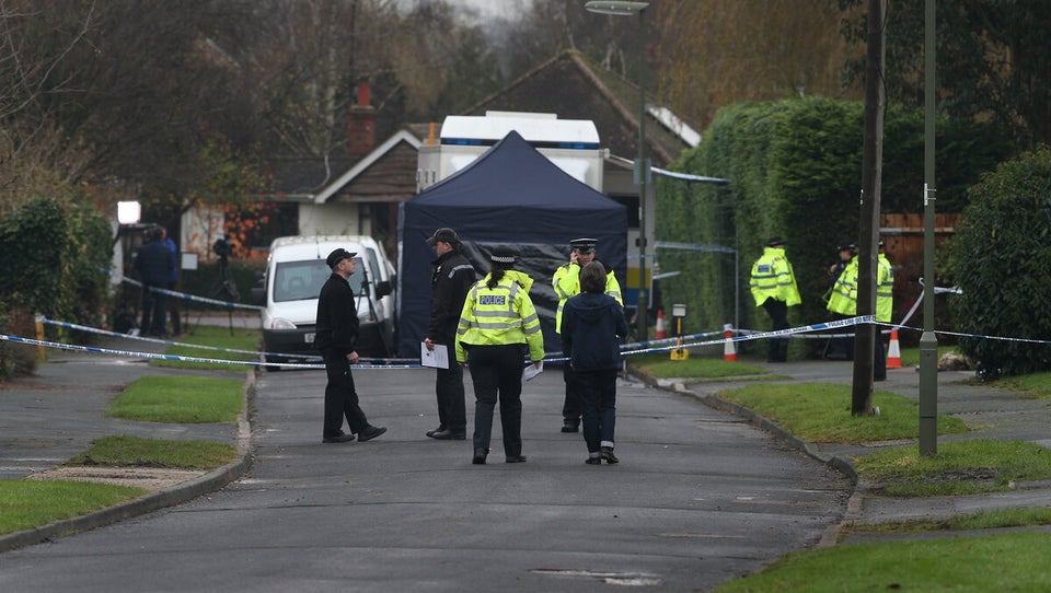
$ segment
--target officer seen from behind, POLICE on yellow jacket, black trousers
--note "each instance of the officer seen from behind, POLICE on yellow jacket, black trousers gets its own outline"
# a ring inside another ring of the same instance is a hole
[[[510,249],[494,249],[489,274],[467,293],[457,327],[457,362],[474,382],[473,464],[484,464],[493,433],[493,410],[500,402],[500,427],[507,463],[522,455],[523,350],[536,369],[544,360],[544,336],[529,298],[533,279],[515,269]]]

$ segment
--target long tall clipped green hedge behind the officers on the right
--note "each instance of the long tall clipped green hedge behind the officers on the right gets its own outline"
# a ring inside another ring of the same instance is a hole
[[[732,254],[657,249],[660,271],[680,272],[661,280],[660,289],[665,307],[688,304],[686,333],[735,323],[736,303],[740,327],[770,327],[751,299],[748,279],[771,235],[786,240],[802,296],[802,304],[789,310],[789,322],[829,318],[822,295],[835,245],[858,237],[863,129],[864,105],[857,102],[804,97],[738,104],[720,109],[703,142],[671,165],[730,184],[661,178],[657,241],[730,247],[739,258],[735,276]],[[888,108],[883,133],[881,210],[921,211],[922,114]],[[938,209],[959,211],[965,188],[1008,154],[1009,143],[978,125],[940,121],[938,135]]]

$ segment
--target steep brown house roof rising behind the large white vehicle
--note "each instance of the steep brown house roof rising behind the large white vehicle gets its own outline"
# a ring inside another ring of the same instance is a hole
[[[564,119],[590,119],[611,153],[625,158],[638,153],[638,85],[602,70],[579,51],[563,51],[464,113],[485,115],[487,111],[545,112]],[[663,166],[677,160],[691,142],[652,117],[662,112],[654,106],[648,111],[647,155],[655,165]]]

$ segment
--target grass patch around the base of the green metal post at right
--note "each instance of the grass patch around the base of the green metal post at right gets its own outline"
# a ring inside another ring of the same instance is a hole
[[[886,482],[888,496],[977,495],[1051,479],[1051,450],[1026,441],[975,439],[939,444],[932,456],[921,456],[916,446],[886,449],[855,457],[854,467],[869,480]]]

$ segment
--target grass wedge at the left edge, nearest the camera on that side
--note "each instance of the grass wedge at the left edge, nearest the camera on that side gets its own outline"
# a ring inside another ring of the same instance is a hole
[[[0,480],[0,535],[84,515],[147,491],[88,481]]]

